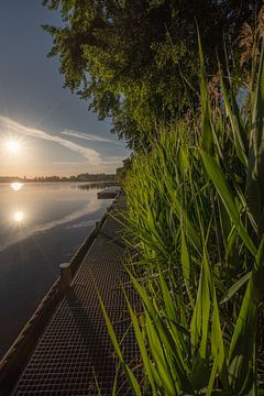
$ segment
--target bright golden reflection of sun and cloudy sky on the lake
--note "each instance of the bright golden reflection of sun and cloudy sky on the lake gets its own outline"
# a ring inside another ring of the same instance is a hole
[[[50,233],[55,227],[65,224],[66,230],[67,226],[80,224],[82,220],[96,221],[109,205],[97,199],[96,188],[80,189],[73,183],[21,180],[21,184],[19,191],[11,188],[11,184],[0,184],[0,263],[1,252],[8,246],[38,232]]]

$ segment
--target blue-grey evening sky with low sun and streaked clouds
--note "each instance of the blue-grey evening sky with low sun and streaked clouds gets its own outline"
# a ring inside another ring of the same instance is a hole
[[[61,24],[41,0],[2,1],[0,13],[0,176],[114,173],[129,156],[125,142],[98,121],[69,89],[52,37],[42,24]],[[9,150],[10,141],[19,150]]]

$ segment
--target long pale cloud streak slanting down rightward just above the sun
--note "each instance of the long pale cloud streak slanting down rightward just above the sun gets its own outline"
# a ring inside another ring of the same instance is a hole
[[[57,143],[75,153],[78,153],[86,160],[88,160],[89,165],[100,167],[102,166],[102,161],[100,154],[92,148],[82,147],[79,144],[73,143],[64,138],[52,135],[43,130],[36,128],[25,127],[20,124],[8,117],[0,116],[0,131],[1,132],[14,132],[18,134],[23,134],[31,138],[42,139],[45,141]]]

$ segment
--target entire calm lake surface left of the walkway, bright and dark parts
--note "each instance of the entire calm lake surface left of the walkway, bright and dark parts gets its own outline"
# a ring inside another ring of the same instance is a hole
[[[110,204],[79,187],[0,184],[0,358]]]

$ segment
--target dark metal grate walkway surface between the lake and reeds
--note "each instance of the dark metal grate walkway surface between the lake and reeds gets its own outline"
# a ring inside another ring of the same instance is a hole
[[[120,197],[118,207],[123,205],[124,198]],[[130,320],[120,287],[128,280],[122,268],[124,249],[120,231],[120,224],[108,218],[69,292],[46,326],[12,395],[98,395],[98,386],[101,395],[111,395],[117,360],[98,293],[121,339]],[[133,293],[128,293],[132,305],[136,305]],[[134,360],[136,365],[139,352],[132,330],[124,339],[123,352],[125,361]],[[120,371],[117,394],[129,395],[128,388]]]

